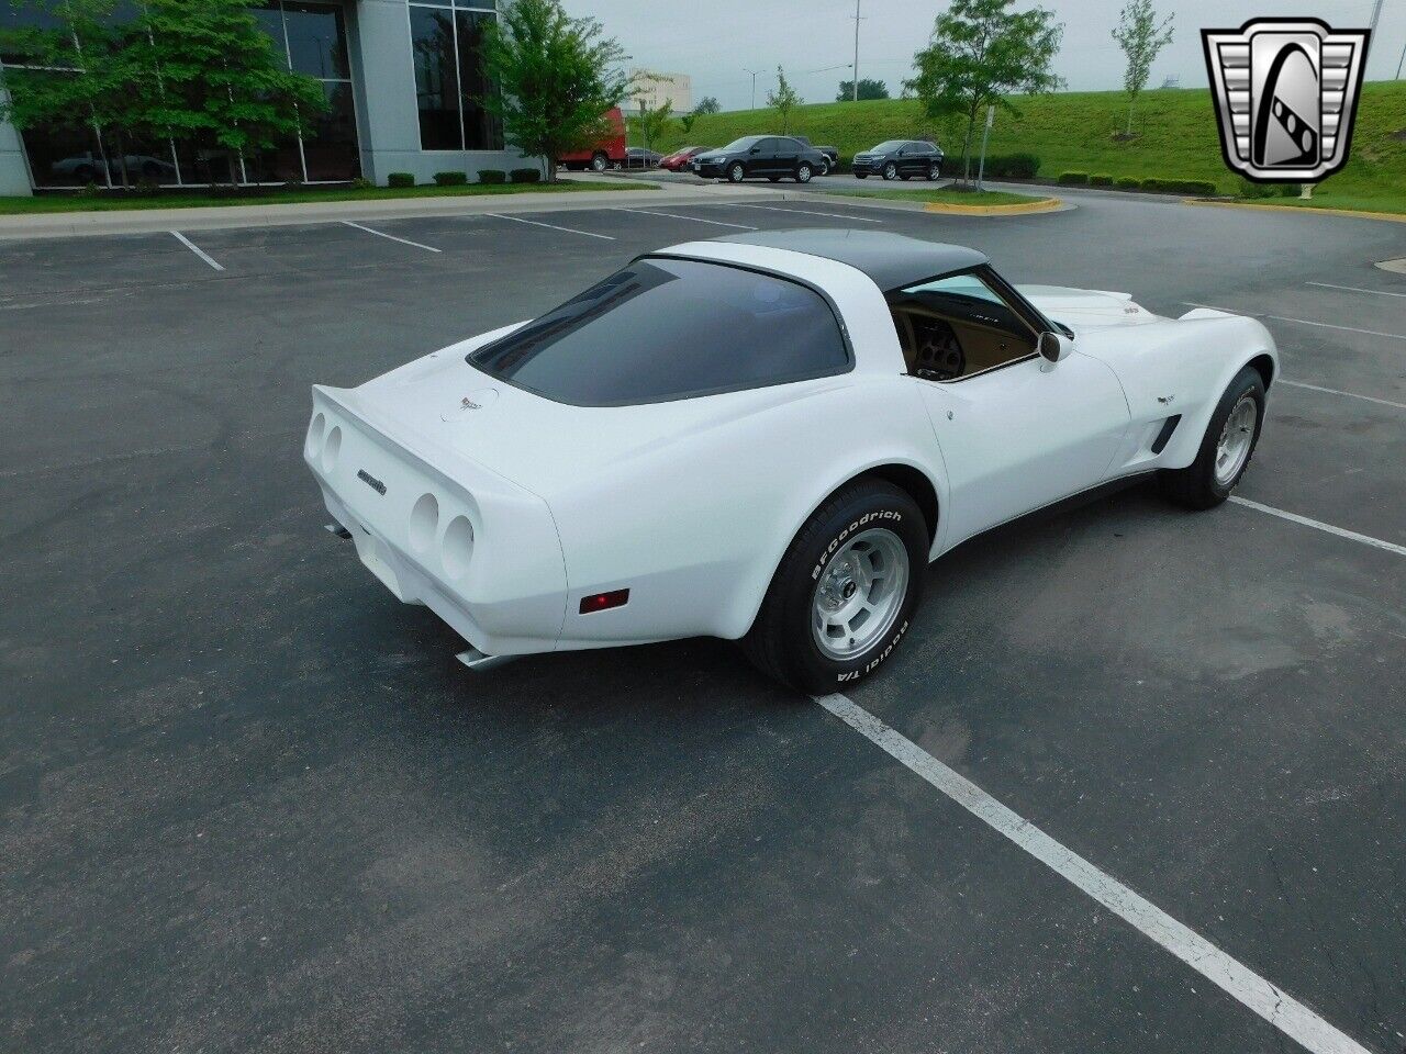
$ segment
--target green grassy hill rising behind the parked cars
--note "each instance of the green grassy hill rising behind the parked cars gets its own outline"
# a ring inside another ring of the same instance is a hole
[[[1133,122],[1140,135],[1129,142],[1114,139],[1128,114],[1121,91],[1070,91],[1017,97],[1014,103],[1021,117],[997,112],[988,152],[1036,155],[1042,180],[1073,170],[1115,177],[1211,180],[1223,194],[1233,194],[1240,186],[1239,176],[1226,169],[1220,157],[1211,93],[1205,89],[1144,93]],[[688,141],[721,146],[740,135],[779,131],[770,110],[711,114],[697,118]],[[914,100],[800,107],[793,112],[790,131],[810,136],[811,142],[834,143],[844,157],[883,139],[917,136],[936,138],[949,157],[962,153],[962,124],[925,122]],[[683,142],[683,132],[675,124],[664,146],[682,146]],[[1316,195],[1324,198],[1323,204],[1330,198],[1334,204],[1396,200],[1400,201],[1398,211],[1406,211],[1406,80],[1374,82],[1364,87],[1351,160],[1341,173],[1324,181]]]

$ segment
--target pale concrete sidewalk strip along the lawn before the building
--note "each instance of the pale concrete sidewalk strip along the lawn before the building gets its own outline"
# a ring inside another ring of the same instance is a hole
[[[575,191],[569,194],[492,194],[484,197],[389,198],[387,201],[326,201],[297,205],[224,205],[214,208],[153,208],[122,212],[41,212],[0,216],[0,240],[14,238],[73,238],[131,235],[160,230],[214,230],[240,226],[335,223],[343,219],[411,219],[416,216],[481,215],[484,212],[561,212],[567,209],[628,207],[655,208],[723,201],[786,200],[785,191],[720,184],[673,186],[659,190]],[[794,197],[794,195],[792,195]]]

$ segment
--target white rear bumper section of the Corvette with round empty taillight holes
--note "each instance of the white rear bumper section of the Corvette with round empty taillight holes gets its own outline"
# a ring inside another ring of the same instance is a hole
[[[304,460],[361,562],[479,652],[551,651],[567,578],[547,505],[359,391],[315,385],[312,403]]]

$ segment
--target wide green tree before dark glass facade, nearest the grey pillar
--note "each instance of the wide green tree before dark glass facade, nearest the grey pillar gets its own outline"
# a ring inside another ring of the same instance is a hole
[[[135,27],[150,69],[131,101],[141,124],[222,148],[231,183],[236,157],[311,135],[307,118],[328,108],[322,84],[288,72],[246,0],[143,0]]]

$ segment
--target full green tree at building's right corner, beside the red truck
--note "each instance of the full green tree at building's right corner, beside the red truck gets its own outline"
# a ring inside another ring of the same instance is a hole
[[[607,111],[630,79],[619,70],[624,51],[595,18],[571,18],[558,0],[512,0],[485,34],[484,56],[499,89],[484,105],[512,146],[543,159],[548,183],[558,157],[612,135]]]

